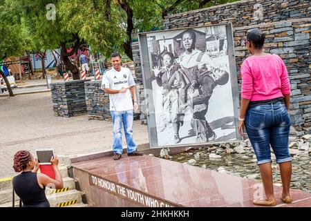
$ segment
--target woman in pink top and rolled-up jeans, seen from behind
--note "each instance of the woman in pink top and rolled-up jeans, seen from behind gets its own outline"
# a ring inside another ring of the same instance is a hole
[[[278,55],[263,52],[265,34],[255,29],[247,35],[246,47],[252,56],[241,66],[242,93],[238,131],[244,128],[254,148],[261,171],[266,199],[254,204],[276,206],[273,191],[270,145],[280,166],[283,191],[281,200],[291,203],[292,163],[288,148],[290,135],[290,81]]]

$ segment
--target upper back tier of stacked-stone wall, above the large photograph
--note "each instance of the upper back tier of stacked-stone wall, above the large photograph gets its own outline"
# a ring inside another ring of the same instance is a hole
[[[234,27],[310,18],[310,0],[236,1],[165,17],[164,29],[232,23]]]

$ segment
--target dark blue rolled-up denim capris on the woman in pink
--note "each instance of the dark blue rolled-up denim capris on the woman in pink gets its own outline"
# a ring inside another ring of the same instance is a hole
[[[292,160],[288,148],[290,115],[285,104],[277,102],[248,108],[245,114],[245,129],[258,165],[272,162],[270,144],[277,163]]]

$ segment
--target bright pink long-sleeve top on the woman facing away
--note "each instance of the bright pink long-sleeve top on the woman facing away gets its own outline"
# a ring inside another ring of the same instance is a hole
[[[279,55],[247,57],[241,66],[241,97],[263,101],[290,94],[288,70]]]

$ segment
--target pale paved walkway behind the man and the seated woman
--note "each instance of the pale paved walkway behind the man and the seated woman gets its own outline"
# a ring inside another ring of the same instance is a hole
[[[15,175],[12,159],[22,149],[79,155],[108,150],[112,144],[111,122],[88,120],[87,115],[54,117],[50,92],[0,97],[0,125],[0,178]],[[149,142],[146,125],[135,121],[133,131],[137,144]]]

